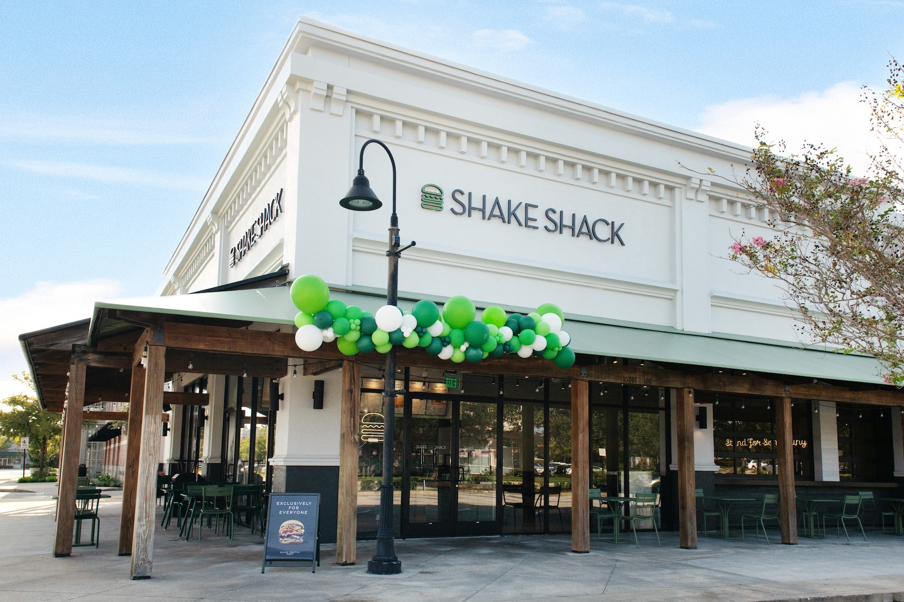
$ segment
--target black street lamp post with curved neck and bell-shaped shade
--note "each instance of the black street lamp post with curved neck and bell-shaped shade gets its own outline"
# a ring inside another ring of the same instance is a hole
[[[396,214],[396,169],[395,158],[388,146],[380,140],[370,139],[361,146],[361,155],[358,159],[358,174],[354,176],[352,187],[342,201],[339,202],[345,209],[353,212],[372,212],[380,209],[382,202],[371,190],[371,183],[364,175],[364,149],[371,143],[383,147],[390,156],[392,164],[392,215],[390,217],[390,249],[386,251],[389,258],[389,278],[386,287],[386,305],[397,306],[399,304],[399,256],[401,252],[415,245],[411,244],[400,249],[399,216]],[[380,486],[380,530],[377,531],[377,552],[372,560],[367,563],[367,572],[376,575],[393,575],[401,572],[401,562],[395,555],[392,529],[392,469],[393,453],[392,440],[395,431],[395,371],[396,350],[393,346],[386,354],[386,373],[384,374],[383,388],[383,482]],[[404,393],[404,391],[402,391]]]

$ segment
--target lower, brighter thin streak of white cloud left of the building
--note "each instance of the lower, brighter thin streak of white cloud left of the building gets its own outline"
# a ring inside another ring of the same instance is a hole
[[[191,175],[165,174],[149,169],[90,165],[66,161],[9,161],[5,165],[35,174],[59,175],[99,182],[126,183],[155,188],[174,188],[203,192],[209,180]]]

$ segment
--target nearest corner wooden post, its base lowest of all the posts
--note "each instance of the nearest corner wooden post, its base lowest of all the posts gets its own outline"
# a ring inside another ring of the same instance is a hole
[[[157,462],[160,459],[161,413],[164,406],[166,348],[147,345],[145,404],[141,419],[141,449],[135,498],[135,529],[132,534],[132,578],[151,576],[156,522]]]

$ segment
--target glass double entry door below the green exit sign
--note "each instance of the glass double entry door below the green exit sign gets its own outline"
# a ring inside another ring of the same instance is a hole
[[[497,403],[412,399],[403,532],[411,537],[493,533]]]

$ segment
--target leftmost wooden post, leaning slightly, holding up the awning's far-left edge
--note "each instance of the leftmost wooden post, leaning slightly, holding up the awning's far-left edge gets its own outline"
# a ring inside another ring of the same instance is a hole
[[[83,364],[69,367],[69,400],[66,401],[66,430],[63,432],[63,456],[60,463],[60,488],[57,496],[57,524],[53,537],[53,555],[72,553],[72,527],[75,524],[75,493],[79,487],[81,451],[81,413],[85,407],[85,369]]]

